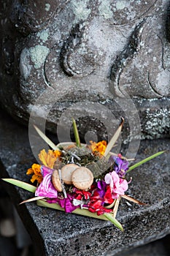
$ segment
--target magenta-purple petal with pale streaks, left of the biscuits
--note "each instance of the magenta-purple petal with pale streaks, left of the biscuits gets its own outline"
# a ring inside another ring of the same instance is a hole
[[[46,166],[42,166],[41,170],[42,170],[43,180],[42,180],[42,183],[39,184],[39,187],[37,187],[35,196],[49,197],[49,198],[58,197],[58,192],[51,182],[53,169],[50,169]]]

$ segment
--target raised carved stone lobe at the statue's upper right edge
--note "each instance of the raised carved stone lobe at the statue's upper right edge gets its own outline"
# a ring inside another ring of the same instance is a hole
[[[160,10],[139,23],[112,67],[113,90],[117,94],[159,98],[170,95],[169,42],[166,17]]]

